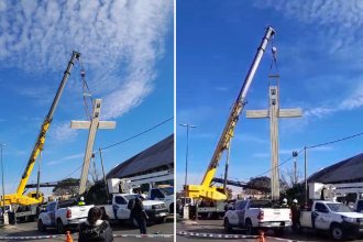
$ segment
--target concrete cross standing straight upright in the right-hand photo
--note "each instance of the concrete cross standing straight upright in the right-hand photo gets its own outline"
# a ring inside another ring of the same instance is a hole
[[[277,86],[270,86],[270,110],[249,110],[246,118],[262,119],[270,118],[271,136],[271,196],[272,199],[279,199],[279,172],[278,172],[278,118],[298,118],[302,116],[301,109],[280,109],[279,94]]]

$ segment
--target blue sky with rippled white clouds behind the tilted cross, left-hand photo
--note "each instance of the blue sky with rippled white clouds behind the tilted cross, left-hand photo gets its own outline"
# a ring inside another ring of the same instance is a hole
[[[95,150],[120,142],[174,116],[173,1],[1,1],[0,141],[6,191],[14,193],[72,51],[81,53],[101,120]],[[65,87],[42,154],[42,182],[55,182],[82,163],[88,132],[80,65]],[[163,140],[173,121],[103,153],[106,170]],[[100,160],[96,160],[100,172]],[[37,165],[30,183],[36,180]],[[77,172],[73,177],[79,177]]]

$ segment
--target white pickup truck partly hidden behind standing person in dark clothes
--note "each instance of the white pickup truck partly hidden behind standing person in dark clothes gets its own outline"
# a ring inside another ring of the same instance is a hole
[[[125,221],[130,220],[130,209],[128,209],[129,200],[135,199],[138,194],[113,194],[112,205],[100,205],[98,207],[105,208],[106,213],[111,220]],[[165,222],[166,217],[169,215],[163,201],[144,200],[144,209],[148,216],[148,222]],[[132,221],[138,224],[136,221]]]

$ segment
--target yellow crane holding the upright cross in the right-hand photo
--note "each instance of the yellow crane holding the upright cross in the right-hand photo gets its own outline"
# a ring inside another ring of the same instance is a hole
[[[268,41],[271,40],[271,37],[273,37],[274,34],[275,34],[274,29],[272,26],[267,26],[265,35],[261,41],[261,44],[257,48],[257,53],[255,54],[253,63],[244,79],[240,94],[239,94],[237,100],[234,101],[233,108],[228,118],[228,121],[223,129],[222,135],[219,139],[219,142],[215,150],[213,156],[212,156],[212,158],[208,165],[208,168],[205,173],[205,176],[201,180],[201,184],[200,185],[187,185],[185,187],[186,197],[196,198],[196,199],[201,198],[201,199],[209,199],[209,200],[227,200],[226,183],[224,183],[223,187],[212,186],[211,183],[216,175],[217,167],[221,160],[222,153],[226,150],[229,150],[229,147],[230,147],[231,138],[233,136],[234,128],[239,120],[239,116],[242,112],[243,107],[246,103],[246,101],[245,101],[246,94],[249,91],[249,88],[250,88],[253,77],[255,75],[255,72],[260,65],[261,58],[268,44]],[[226,166],[224,180],[227,179],[227,172],[228,172],[228,165]]]

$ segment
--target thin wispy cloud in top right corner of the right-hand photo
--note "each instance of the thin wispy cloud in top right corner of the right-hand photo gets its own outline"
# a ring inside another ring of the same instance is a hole
[[[298,0],[257,0],[254,6],[274,9],[287,19],[311,24],[311,31],[316,31],[314,37],[323,43],[311,46],[312,48],[324,50],[340,58],[350,58],[351,53],[363,52],[362,45],[353,45],[362,38],[360,29],[363,23],[363,4],[361,1],[312,0],[302,4]]]

